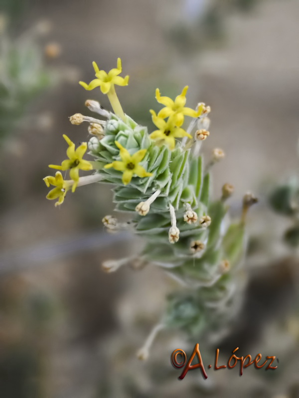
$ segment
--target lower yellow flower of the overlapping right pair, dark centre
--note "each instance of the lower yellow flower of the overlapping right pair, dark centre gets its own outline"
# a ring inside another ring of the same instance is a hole
[[[185,130],[175,125],[175,120],[173,119],[173,117],[170,116],[166,121],[156,115],[155,111],[153,111],[152,109],[150,109],[150,113],[152,114],[153,123],[158,128],[158,130],[155,130],[150,134],[150,138],[152,138],[153,140],[161,141],[162,143],[165,142],[169,146],[171,151],[175,148],[174,138],[192,138],[192,136],[188,134]]]

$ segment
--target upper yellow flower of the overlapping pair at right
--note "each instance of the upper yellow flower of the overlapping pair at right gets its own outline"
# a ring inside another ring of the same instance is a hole
[[[175,120],[175,124],[180,127],[184,122],[184,115],[191,116],[191,117],[198,117],[200,116],[202,109],[198,108],[198,110],[194,110],[191,108],[185,107],[186,103],[186,93],[188,90],[188,86],[185,86],[179,96],[175,98],[175,100],[171,100],[169,97],[161,97],[159,89],[156,89],[156,100],[159,103],[165,105],[162,108],[158,116],[162,119],[165,117],[173,116]]]

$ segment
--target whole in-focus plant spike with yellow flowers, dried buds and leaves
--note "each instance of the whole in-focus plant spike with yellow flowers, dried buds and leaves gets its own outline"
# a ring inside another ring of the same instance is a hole
[[[119,223],[112,215],[103,222],[109,230],[129,228],[143,235],[146,245],[138,256],[103,264],[107,272],[139,260],[164,267],[172,277],[186,286],[167,299],[164,318],[154,327],[139,352],[140,358],[148,356],[149,346],[162,327],[176,327],[190,335],[208,330],[211,333],[224,327],[225,321],[235,315],[233,305],[238,305],[236,269],[244,252],[244,225],[248,208],[256,201],[247,194],[243,201],[241,220],[230,224],[226,199],[233,187],[225,184],[222,196],[210,201],[210,170],[224,157],[215,149],[210,162],[204,167],[199,154],[200,146],[209,132],[207,114],[210,107],[199,103],[196,109],[185,107],[186,92],[182,90],[175,100],[156,99],[164,107],[156,114],[150,110],[157,127],[148,134],[147,127],[138,125],[123,112],[115,92],[115,85],[126,86],[129,77],[120,77],[121,60],[108,74],[93,63],[96,79],[89,85],[80,82],[86,90],[100,87],[107,94],[114,113],[101,107],[99,102],[87,100],[87,107],[105,117],[100,120],[80,113],[70,117],[72,124],[89,123],[92,135],[89,143],[75,149],[74,143],[64,136],[69,147],[68,160],[59,170],[70,170],[71,180],[64,181],[60,172],[44,179],[47,186],[55,188],[47,198],[61,204],[67,191],[93,182],[114,184],[116,209],[133,213],[129,223]],[[191,122],[182,128],[185,116]],[[198,129],[193,134],[193,130]],[[178,140],[177,138],[182,138]],[[87,150],[94,161],[83,160]],[[79,170],[94,170],[79,178]]]

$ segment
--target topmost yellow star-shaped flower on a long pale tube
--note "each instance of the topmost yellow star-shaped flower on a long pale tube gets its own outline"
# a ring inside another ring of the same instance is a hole
[[[100,71],[95,62],[93,62],[92,65],[96,72],[97,79],[92,80],[89,85],[84,82],[79,82],[85,90],[93,90],[96,87],[100,87],[103,94],[108,94],[113,90],[115,84],[118,86],[128,86],[129,76],[126,76],[125,78],[118,76],[122,72],[122,60],[120,58],[117,60],[117,68],[111,69],[108,73]]]

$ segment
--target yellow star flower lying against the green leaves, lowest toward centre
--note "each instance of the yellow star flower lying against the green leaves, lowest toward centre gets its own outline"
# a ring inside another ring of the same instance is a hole
[[[139,163],[146,156],[147,149],[141,149],[134,155],[130,155],[126,148],[124,148],[118,141],[115,141],[115,145],[120,149],[120,156],[122,161],[115,161],[104,166],[105,169],[113,167],[115,170],[124,172],[123,183],[128,185],[134,174],[138,177],[150,177],[151,173],[148,173]]]

